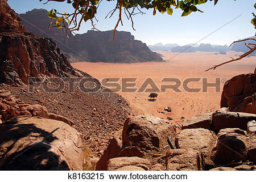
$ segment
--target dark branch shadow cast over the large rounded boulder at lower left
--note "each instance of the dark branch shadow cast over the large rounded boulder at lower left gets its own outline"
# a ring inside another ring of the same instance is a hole
[[[51,143],[57,139],[34,124],[17,124],[16,118],[0,125],[0,170],[69,170]],[[23,137],[31,141],[22,141]],[[43,140],[35,140],[43,137]],[[18,147],[16,147],[18,145]],[[6,147],[5,147],[6,146]]]

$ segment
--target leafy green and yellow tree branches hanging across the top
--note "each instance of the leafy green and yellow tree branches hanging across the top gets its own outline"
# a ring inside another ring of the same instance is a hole
[[[43,1],[43,0],[39,0],[39,1]],[[93,29],[97,29],[94,27],[93,20],[95,19],[95,15],[97,14],[97,9],[98,9],[98,6],[100,6],[100,2],[105,0],[48,0],[47,2],[49,1],[57,1],[57,2],[66,1],[74,9],[74,12],[71,14],[67,14],[65,12],[61,13],[61,12],[58,12],[56,9],[52,9],[51,11],[48,12],[48,16],[52,20],[57,19],[56,22],[52,21],[52,23],[56,24],[58,28],[66,28],[66,29],[69,29],[69,31],[78,31],[80,29],[81,22],[82,21],[87,22],[88,20],[92,22]],[[126,17],[129,20],[131,20],[132,27],[133,27],[133,16],[139,13],[143,14],[142,12],[143,9],[147,9],[147,10],[152,9],[153,15],[155,15],[157,11],[161,12],[162,14],[167,12],[167,14],[172,15],[174,9],[181,9],[183,11],[181,16],[187,16],[192,12],[196,12],[196,11],[203,12],[197,8],[197,5],[208,2],[208,0],[184,0],[184,1],[180,1],[180,0],[106,0],[106,1],[117,2],[115,7],[113,7],[113,10],[111,10],[109,14],[106,16],[106,18],[108,16],[110,18],[114,14],[114,12],[119,12],[119,19],[117,21],[115,29],[117,28],[119,22],[122,23],[123,13],[126,15]],[[216,5],[216,3],[218,2],[218,0],[209,0],[209,1],[214,1],[214,5]],[[61,17],[57,18],[57,15]],[[69,26],[65,26],[65,24],[63,26],[63,24],[60,24],[61,22],[64,22],[64,21],[68,22]]]

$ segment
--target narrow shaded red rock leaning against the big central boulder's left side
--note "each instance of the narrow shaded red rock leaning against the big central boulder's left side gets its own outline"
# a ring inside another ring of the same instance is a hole
[[[122,147],[122,142],[118,138],[110,138],[109,145],[101,156],[100,160],[98,160],[96,164],[96,171],[106,171],[108,160],[112,158],[116,158],[119,156],[120,150]]]

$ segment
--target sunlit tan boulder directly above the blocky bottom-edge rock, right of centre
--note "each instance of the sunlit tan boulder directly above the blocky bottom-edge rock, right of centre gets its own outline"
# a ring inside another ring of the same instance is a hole
[[[205,160],[205,165],[214,165],[210,159],[213,147],[216,145],[214,132],[204,129],[184,129],[176,136],[177,149],[194,149],[200,151]]]

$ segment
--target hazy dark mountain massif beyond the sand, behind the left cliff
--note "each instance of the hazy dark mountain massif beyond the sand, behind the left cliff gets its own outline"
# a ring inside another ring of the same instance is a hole
[[[64,50],[69,57],[76,57],[77,61],[126,63],[163,61],[159,54],[152,52],[146,44],[134,40],[134,36],[130,32],[116,31],[114,41],[112,40],[113,31],[88,31],[76,36],[68,33],[69,39],[67,39],[63,29],[53,27],[48,29],[51,19],[47,16],[47,10],[34,9],[26,14],[20,14],[20,17],[22,17],[22,23],[27,31],[35,33],[37,36],[54,38],[61,50]],[[31,24],[47,34],[42,33]]]

